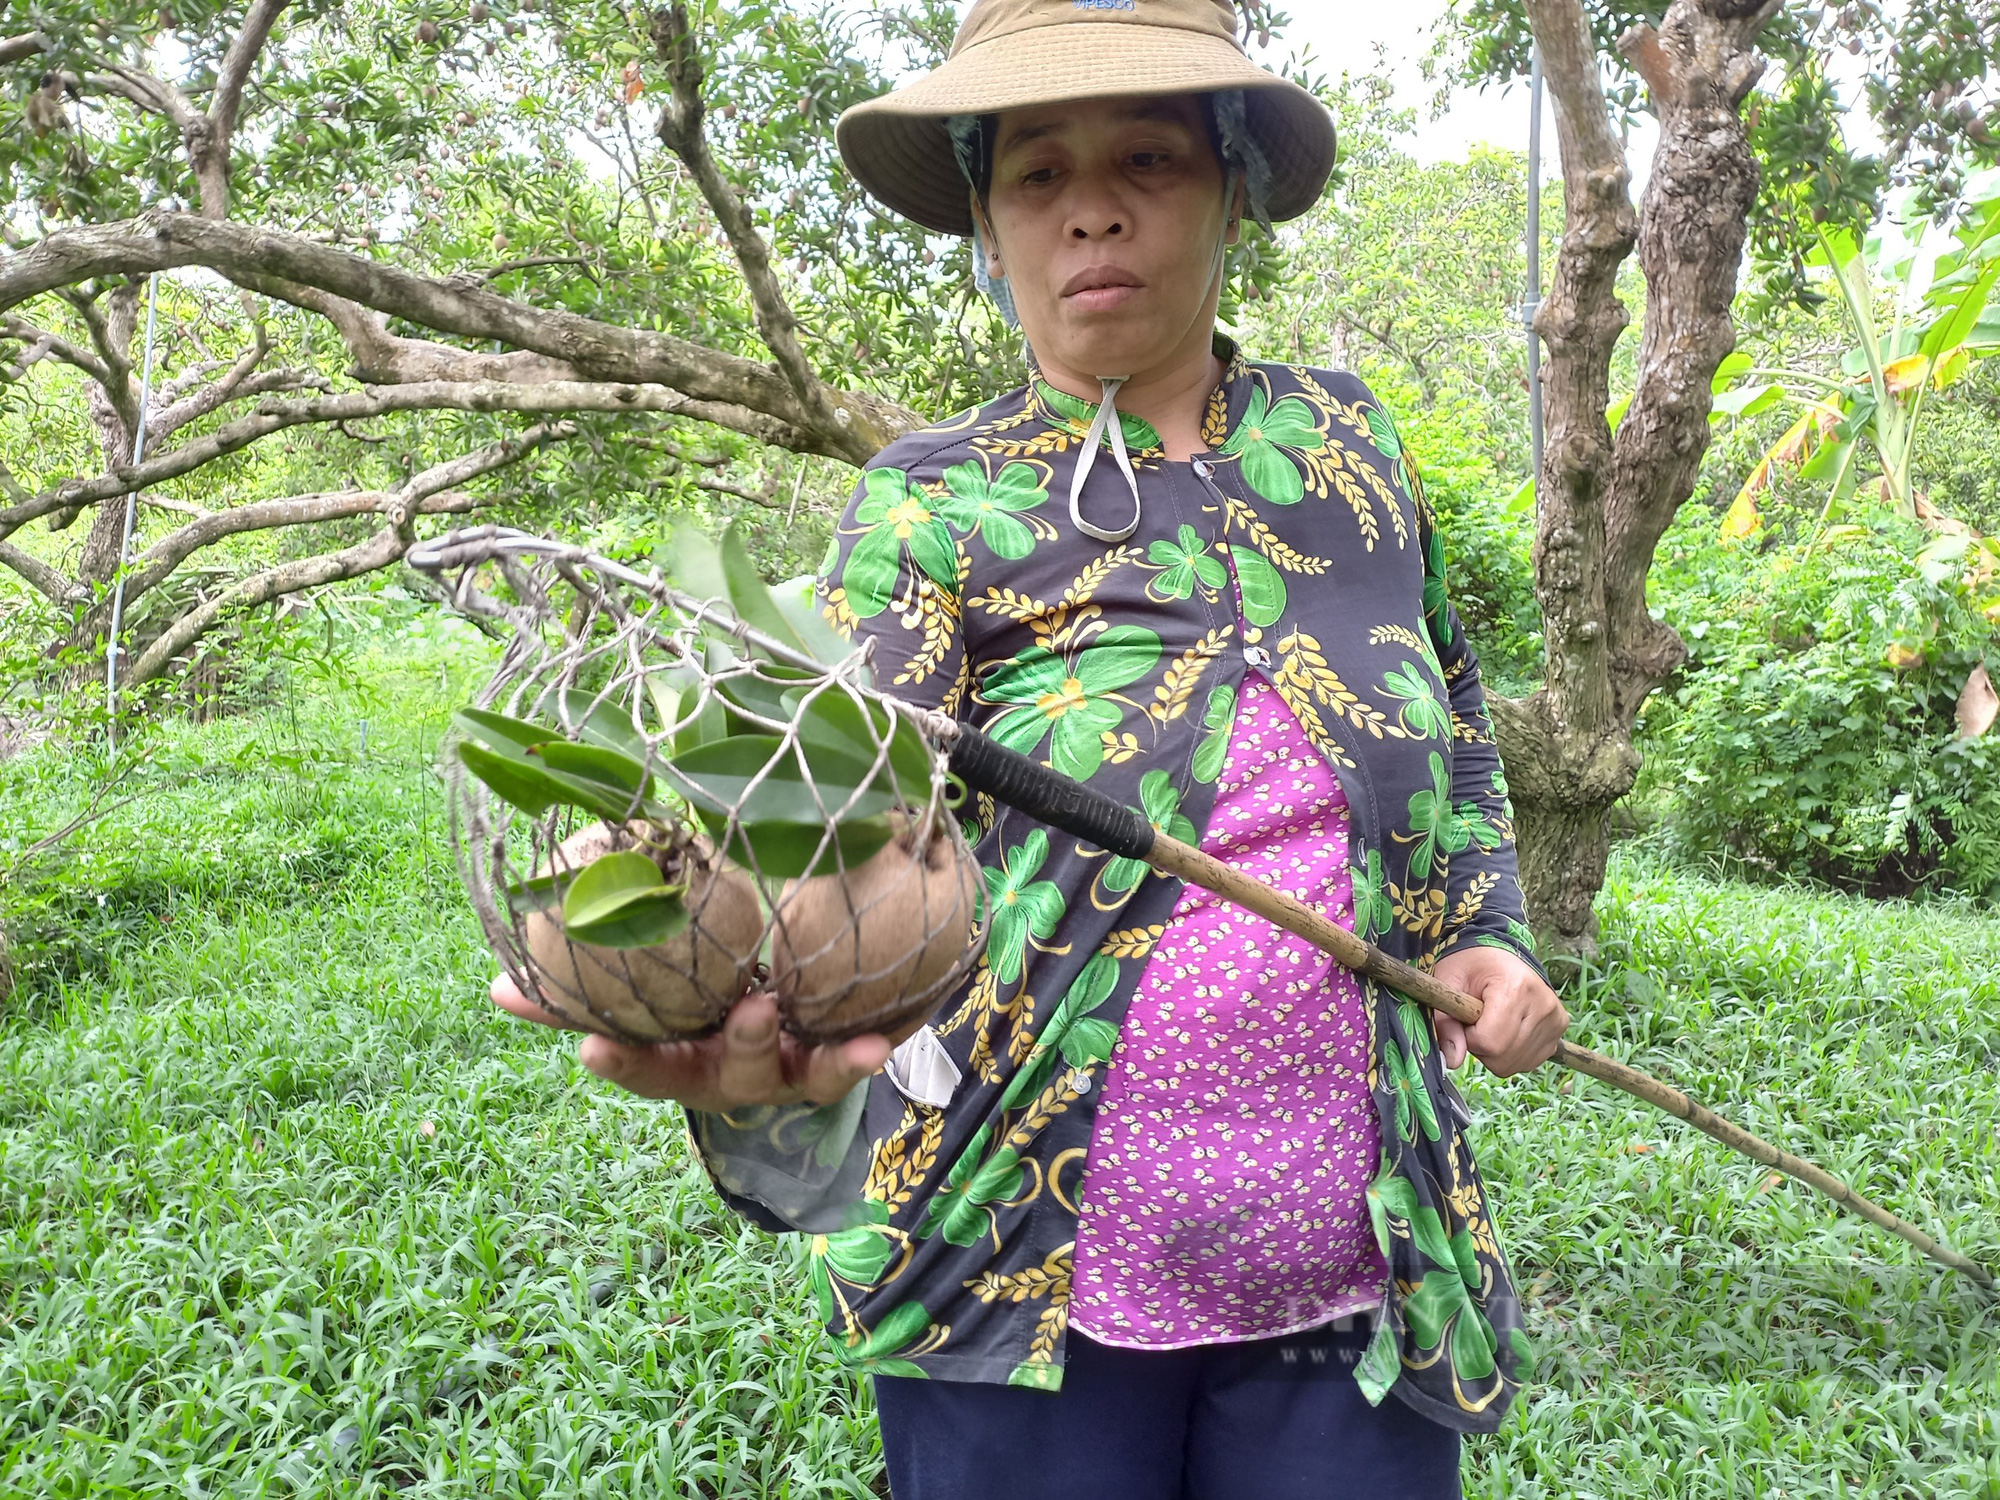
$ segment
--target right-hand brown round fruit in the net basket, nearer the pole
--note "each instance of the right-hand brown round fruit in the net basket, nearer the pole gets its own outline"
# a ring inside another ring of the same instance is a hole
[[[978,862],[914,824],[846,874],[794,880],[772,922],[770,988],[802,1042],[902,1042],[946,996],[978,914]]]

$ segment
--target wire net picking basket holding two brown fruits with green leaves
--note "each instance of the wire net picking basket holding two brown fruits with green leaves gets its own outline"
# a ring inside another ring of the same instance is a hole
[[[742,570],[682,592],[504,528],[412,562],[508,628],[444,776],[460,876],[526,996],[660,1042],[768,988],[820,1044],[902,1040],[960,986],[986,912],[948,726],[874,692],[804,594]]]

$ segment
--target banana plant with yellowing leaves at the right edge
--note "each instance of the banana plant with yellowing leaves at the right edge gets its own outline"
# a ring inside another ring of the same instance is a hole
[[[1786,466],[1828,486],[1820,514],[1828,526],[1860,486],[1864,450],[1900,514],[1934,518],[1912,486],[1910,460],[1932,398],[1974,360],[2000,352],[2000,168],[1966,184],[1950,224],[1924,220],[1906,196],[1866,240],[1822,228],[1810,264],[1826,270],[1854,342],[1832,376],[1760,368],[1740,354],[1724,362],[1718,384],[1728,382],[1736,414],[1780,400],[1804,408],[1750,470],[1722,518],[1726,538],[1758,528],[1756,496]]]

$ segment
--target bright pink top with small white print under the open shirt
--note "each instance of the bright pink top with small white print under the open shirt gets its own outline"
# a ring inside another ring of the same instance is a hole
[[[1354,926],[1348,802],[1244,678],[1202,850]],[[1368,1004],[1332,958],[1186,886],[1126,1012],[1082,1182],[1070,1326],[1186,1348],[1382,1300]]]

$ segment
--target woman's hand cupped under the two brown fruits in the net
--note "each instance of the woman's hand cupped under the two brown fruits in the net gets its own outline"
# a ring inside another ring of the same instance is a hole
[[[506,974],[492,982],[492,1002],[510,1016],[558,1030],[582,1030],[520,992]],[[684,1108],[728,1114],[756,1104],[832,1104],[888,1062],[886,1036],[806,1048],[778,1024],[778,1000],[756,990],[694,1042],[626,1046],[608,1036],[584,1036],[576,1056],[606,1082],[644,1098],[680,1100]]]

